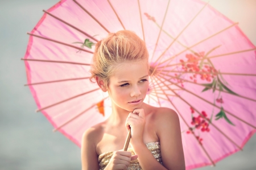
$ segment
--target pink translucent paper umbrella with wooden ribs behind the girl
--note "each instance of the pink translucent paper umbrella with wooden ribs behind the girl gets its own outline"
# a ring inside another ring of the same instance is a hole
[[[67,0],[44,11],[29,33],[28,86],[41,111],[78,146],[111,114],[108,94],[89,81],[94,44],[131,30],[150,53],[144,102],[180,117],[187,169],[214,165],[256,128],[255,46],[232,22],[197,0]]]

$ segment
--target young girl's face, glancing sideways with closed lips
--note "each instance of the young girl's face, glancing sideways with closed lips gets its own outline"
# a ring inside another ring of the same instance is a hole
[[[127,111],[140,108],[148,90],[148,67],[145,61],[126,62],[109,79],[112,105]]]

